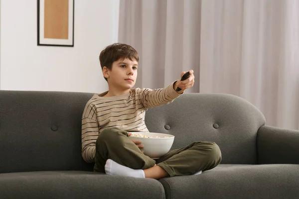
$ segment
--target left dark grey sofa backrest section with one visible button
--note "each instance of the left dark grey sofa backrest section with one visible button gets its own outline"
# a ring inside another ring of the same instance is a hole
[[[81,118],[88,93],[0,91],[0,173],[87,170]]]

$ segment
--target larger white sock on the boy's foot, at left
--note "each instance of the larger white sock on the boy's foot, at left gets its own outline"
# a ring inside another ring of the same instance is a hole
[[[145,178],[145,172],[142,169],[131,169],[108,159],[105,164],[105,172],[111,176],[129,176],[135,178]]]

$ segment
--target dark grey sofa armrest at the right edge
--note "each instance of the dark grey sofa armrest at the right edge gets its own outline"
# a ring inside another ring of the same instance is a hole
[[[299,164],[299,131],[261,126],[257,151],[258,164]]]

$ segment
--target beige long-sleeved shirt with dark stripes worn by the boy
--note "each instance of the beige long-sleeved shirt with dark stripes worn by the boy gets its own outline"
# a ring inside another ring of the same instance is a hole
[[[129,93],[103,97],[108,92],[95,94],[87,103],[82,115],[82,157],[94,162],[96,141],[106,128],[117,127],[126,131],[148,132],[146,110],[172,102],[180,96],[173,83],[163,89],[131,89]]]

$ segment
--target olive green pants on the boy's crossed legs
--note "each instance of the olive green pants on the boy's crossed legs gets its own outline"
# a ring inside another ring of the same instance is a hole
[[[105,173],[107,159],[132,169],[148,169],[157,164],[172,177],[213,169],[221,161],[221,151],[214,142],[193,142],[153,160],[129,139],[127,131],[108,128],[99,134],[96,142],[94,171]]]

